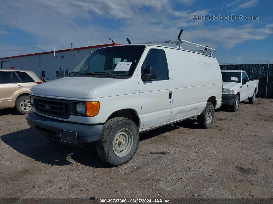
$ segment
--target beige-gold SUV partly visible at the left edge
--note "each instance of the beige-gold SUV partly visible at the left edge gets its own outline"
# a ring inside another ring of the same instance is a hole
[[[0,108],[15,107],[20,114],[29,114],[29,91],[41,83],[32,71],[0,69]]]

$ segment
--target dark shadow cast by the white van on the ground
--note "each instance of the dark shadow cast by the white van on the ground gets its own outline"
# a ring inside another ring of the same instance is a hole
[[[150,130],[140,134],[140,140],[149,139],[180,127],[199,129],[196,120],[188,119],[173,125],[164,126],[156,130]],[[92,143],[88,148],[78,148],[56,143],[43,138],[33,128],[2,135],[5,144],[17,152],[51,166],[66,166],[72,163],[67,160],[68,156],[76,163],[94,168],[111,168],[112,166],[102,162],[96,151],[96,144]],[[73,162],[74,162],[73,161]],[[74,163],[75,163],[74,162]]]

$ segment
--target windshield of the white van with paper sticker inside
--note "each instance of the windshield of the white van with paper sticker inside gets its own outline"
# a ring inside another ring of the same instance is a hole
[[[145,45],[111,46],[89,53],[68,77],[113,77],[131,76]]]

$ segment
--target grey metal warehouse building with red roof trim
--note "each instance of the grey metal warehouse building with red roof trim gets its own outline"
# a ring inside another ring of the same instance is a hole
[[[31,70],[39,78],[54,80],[64,77],[91,51],[110,44],[79,47],[67,50],[57,50],[43,53],[25,54],[0,58],[1,69]],[[73,54],[72,54],[73,53]],[[61,71],[61,72],[60,72]]]

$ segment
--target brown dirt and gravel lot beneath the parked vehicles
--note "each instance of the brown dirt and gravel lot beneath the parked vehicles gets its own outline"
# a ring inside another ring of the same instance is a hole
[[[140,134],[133,159],[111,167],[95,147],[52,143],[0,110],[0,198],[272,198],[273,100],[215,111]],[[170,152],[152,155],[150,152]],[[253,197],[252,197],[253,196]]]

